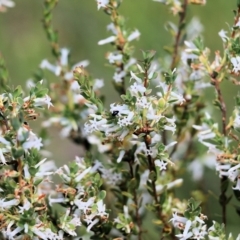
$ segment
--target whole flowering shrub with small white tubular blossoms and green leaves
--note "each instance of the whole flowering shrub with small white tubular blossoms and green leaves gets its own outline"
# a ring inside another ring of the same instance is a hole
[[[188,6],[206,1],[154,1],[179,18],[168,24],[174,43],[161,61],[153,50],[134,57],[140,32],[119,14],[121,0],[95,1],[96,14],[104,12],[110,22],[109,36],[98,41],[111,45],[106,61],[120,100],[110,106],[101,91],[106,81],[92,77],[89,61],[72,64],[70,50],[59,46],[52,25],[57,0],[43,1],[55,62],[42,60],[40,74],[23,90],[10,85],[0,55],[1,239],[143,240],[154,231],[156,239],[240,240],[240,232],[227,229],[233,199],[240,215],[240,95],[228,118],[222,93],[225,81],[240,85],[240,1],[233,25],[219,32],[223,49],[213,60],[199,20],[186,23]],[[14,6],[0,0],[2,12]],[[214,90],[213,104],[204,99],[206,88]],[[39,134],[32,127],[36,119]],[[44,149],[55,126],[84,149],[61,167]],[[221,213],[211,222],[206,193],[200,189],[189,200],[179,194],[187,181],[183,172],[199,184],[205,167],[215,169],[211,177],[220,183]]]

